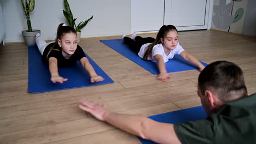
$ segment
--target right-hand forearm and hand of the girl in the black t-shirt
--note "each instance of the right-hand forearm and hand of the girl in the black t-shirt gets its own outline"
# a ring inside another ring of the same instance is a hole
[[[91,64],[89,63],[89,61],[86,57],[81,58],[80,62],[82,63],[84,69],[90,74],[91,82],[98,82],[98,81],[104,80],[101,76],[98,76],[96,74],[94,68],[92,68]]]

